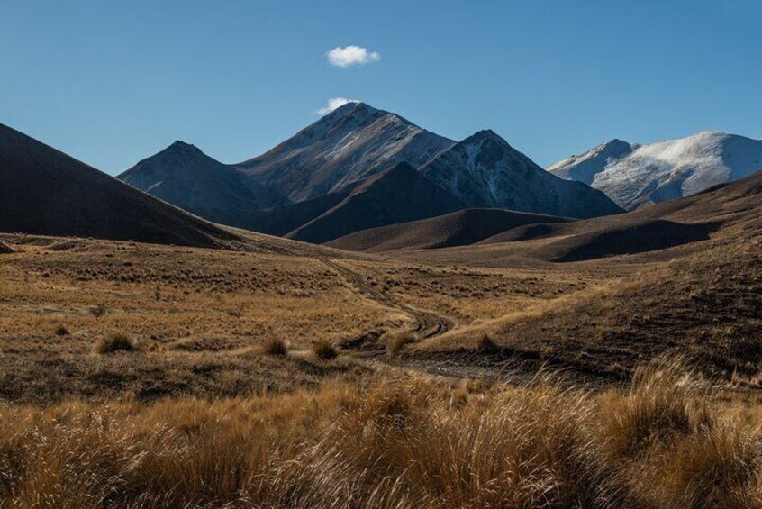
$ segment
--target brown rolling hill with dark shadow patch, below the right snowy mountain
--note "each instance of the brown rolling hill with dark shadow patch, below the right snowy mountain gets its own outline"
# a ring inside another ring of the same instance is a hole
[[[398,225],[395,236],[412,238],[413,233],[404,232],[405,228],[414,229],[411,223]],[[484,267],[635,254],[663,258],[673,256],[672,248],[684,246],[687,250],[701,250],[702,241],[721,241],[739,232],[746,235],[762,232],[762,172],[627,214],[573,223],[528,223],[472,245],[440,250],[396,250],[391,254],[412,261],[425,259],[427,263]],[[362,235],[360,232],[354,236],[360,247]],[[352,236],[346,239],[347,247],[351,240]],[[331,245],[338,247],[344,241]]]

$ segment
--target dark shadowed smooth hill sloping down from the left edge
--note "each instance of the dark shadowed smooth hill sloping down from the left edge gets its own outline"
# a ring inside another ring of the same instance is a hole
[[[0,232],[199,247],[239,239],[2,124]]]

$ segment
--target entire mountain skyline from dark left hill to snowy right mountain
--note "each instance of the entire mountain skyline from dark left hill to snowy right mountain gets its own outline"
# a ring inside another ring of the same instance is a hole
[[[665,223],[652,213],[638,217],[657,223],[636,221],[637,227],[629,215],[608,216],[652,205],[649,210],[760,167],[762,141],[701,132],[650,145],[609,141],[546,171],[493,131],[456,142],[350,103],[243,163],[223,164],[175,141],[125,171],[120,182],[0,125],[0,232],[202,247],[246,237],[224,224],[374,251],[564,232],[571,238],[576,220],[602,218],[614,226],[595,230],[598,241],[622,244],[614,231],[625,224],[621,234],[628,239],[637,232],[671,245],[711,228]],[[567,256],[583,255],[549,259]]]

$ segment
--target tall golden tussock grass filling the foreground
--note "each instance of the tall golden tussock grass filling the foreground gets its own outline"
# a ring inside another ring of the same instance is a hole
[[[9,506],[762,506],[757,414],[664,361],[605,393],[400,376],[0,421]]]

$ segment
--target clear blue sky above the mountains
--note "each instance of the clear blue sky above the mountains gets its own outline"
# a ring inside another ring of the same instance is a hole
[[[112,174],[239,162],[331,97],[545,166],[611,139],[762,138],[762,2],[0,0],[0,123]],[[332,66],[357,45],[376,61]]]

